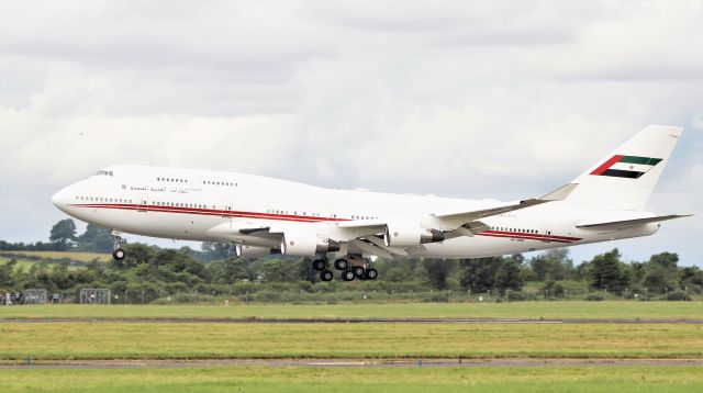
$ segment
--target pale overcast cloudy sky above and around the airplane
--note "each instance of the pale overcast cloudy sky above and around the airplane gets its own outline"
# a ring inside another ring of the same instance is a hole
[[[7,240],[112,164],[514,200],[647,124],[687,128],[650,209],[701,214],[572,256],[703,266],[700,0],[0,0]]]

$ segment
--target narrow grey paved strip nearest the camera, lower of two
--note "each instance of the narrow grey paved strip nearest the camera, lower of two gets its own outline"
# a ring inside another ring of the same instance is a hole
[[[419,367],[702,367],[703,359],[205,359],[205,360],[55,360],[33,364],[0,364],[0,369],[170,369],[194,367],[320,367],[320,368],[419,368]]]

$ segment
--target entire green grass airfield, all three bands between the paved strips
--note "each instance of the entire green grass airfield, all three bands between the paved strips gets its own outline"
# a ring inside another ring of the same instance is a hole
[[[528,324],[0,322],[0,362],[232,358],[703,359],[703,325],[549,324],[540,318],[698,319],[696,302],[41,305],[0,318],[529,318]],[[681,392],[696,366],[349,368],[217,366],[2,369],[0,392]]]

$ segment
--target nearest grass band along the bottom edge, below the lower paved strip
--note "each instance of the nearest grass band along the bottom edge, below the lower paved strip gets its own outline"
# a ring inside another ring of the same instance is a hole
[[[695,367],[2,370],[14,392],[701,392]]]

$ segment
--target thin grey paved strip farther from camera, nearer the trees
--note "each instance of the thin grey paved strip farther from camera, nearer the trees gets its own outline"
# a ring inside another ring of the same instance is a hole
[[[703,324],[703,319],[503,319],[503,318],[0,318],[0,323],[149,324]]]

